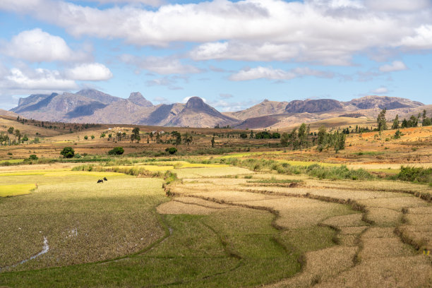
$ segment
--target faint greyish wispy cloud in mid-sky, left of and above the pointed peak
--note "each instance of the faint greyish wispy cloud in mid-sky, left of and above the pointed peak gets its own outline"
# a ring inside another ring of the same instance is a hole
[[[200,73],[201,70],[191,65],[182,64],[179,59],[173,57],[148,56],[138,57],[124,54],[121,61],[140,69],[145,69],[162,75]]]

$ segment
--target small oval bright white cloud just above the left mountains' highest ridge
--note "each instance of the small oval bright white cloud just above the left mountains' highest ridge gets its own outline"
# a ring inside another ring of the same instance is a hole
[[[103,64],[79,64],[66,70],[66,77],[72,80],[100,81],[112,78],[112,73]]]

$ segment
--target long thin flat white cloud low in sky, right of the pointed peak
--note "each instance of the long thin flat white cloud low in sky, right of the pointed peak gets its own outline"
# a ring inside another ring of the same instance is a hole
[[[244,81],[261,78],[272,80],[290,80],[301,76],[331,78],[333,74],[330,72],[313,70],[308,67],[299,67],[289,71],[284,71],[282,69],[275,69],[272,67],[258,66],[256,68],[246,68],[235,74],[232,74],[232,76],[229,76],[229,80]]]

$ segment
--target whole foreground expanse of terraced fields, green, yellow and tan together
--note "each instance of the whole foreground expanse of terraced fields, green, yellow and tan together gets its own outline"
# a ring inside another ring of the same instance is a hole
[[[0,286],[432,287],[426,185],[123,166],[134,167],[179,180],[163,189],[162,178],[71,167],[2,172],[0,188],[37,188],[0,198]]]

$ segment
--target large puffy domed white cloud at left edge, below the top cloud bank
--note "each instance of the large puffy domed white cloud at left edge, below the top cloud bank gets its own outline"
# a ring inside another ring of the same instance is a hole
[[[1,50],[8,56],[31,62],[79,61],[86,57],[83,52],[73,52],[63,38],[39,28],[13,36]]]

